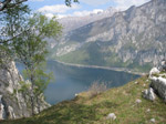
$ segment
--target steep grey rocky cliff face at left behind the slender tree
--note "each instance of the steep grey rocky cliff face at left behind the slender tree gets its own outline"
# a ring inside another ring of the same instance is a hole
[[[31,110],[25,101],[29,96],[19,92],[20,81],[23,79],[14,62],[9,62],[0,69],[0,120],[30,116]],[[41,110],[49,107],[43,99],[40,103]]]

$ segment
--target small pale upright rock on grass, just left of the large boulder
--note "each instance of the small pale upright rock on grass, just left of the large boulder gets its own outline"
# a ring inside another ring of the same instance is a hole
[[[149,87],[148,90],[145,90],[143,92],[143,97],[145,97],[145,99],[147,99],[149,101],[154,101],[156,99],[154,90],[152,87]]]

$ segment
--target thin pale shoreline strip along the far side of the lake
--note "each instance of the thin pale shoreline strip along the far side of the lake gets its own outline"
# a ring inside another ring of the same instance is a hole
[[[89,69],[103,69],[103,70],[111,70],[111,71],[117,71],[117,72],[126,72],[129,74],[136,74],[136,75],[145,75],[146,73],[139,73],[139,72],[132,72],[125,68],[110,68],[110,66],[98,66],[98,65],[84,65],[84,64],[72,64],[72,63],[65,63],[58,60],[51,60],[55,61],[58,63],[69,65],[69,66],[76,66],[76,68],[89,68]]]

